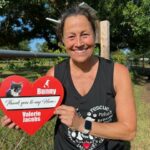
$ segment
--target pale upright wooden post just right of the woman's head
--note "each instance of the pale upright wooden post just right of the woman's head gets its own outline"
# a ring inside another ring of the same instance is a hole
[[[100,22],[101,57],[110,58],[110,24],[109,21]]]

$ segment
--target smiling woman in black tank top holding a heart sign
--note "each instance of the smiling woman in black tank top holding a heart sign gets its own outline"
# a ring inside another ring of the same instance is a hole
[[[95,20],[74,7],[61,18],[58,31],[69,59],[51,68],[65,89],[55,114],[55,150],[124,149],[135,137],[136,112],[127,68],[93,55]],[[15,127],[3,117],[2,125]]]

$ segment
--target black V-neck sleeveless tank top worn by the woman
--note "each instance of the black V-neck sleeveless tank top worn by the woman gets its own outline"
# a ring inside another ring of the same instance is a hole
[[[99,58],[99,67],[95,81],[85,96],[81,96],[73,85],[70,75],[69,59],[55,66],[55,77],[58,78],[65,90],[63,103],[76,108],[83,118],[96,122],[116,121],[115,91],[113,88],[114,63]],[[87,81],[88,82],[88,81]],[[110,140],[72,131],[56,122],[55,150],[123,150],[124,142]]]

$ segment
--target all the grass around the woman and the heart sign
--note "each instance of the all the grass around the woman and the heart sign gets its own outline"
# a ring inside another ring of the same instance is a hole
[[[1,63],[0,82],[3,78],[12,74],[19,74],[34,81],[36,78],[44,75],[49,68],[49,63],[31,67],[19,65],[17,68],[14,68],[14,65],[9,67],[9,64]],[[141,99],[143,87],[143,84],[134,84],[137,107],[137,135],[131,142],[131,150],[148,150],[150,147],[150,103],[145,103]],[[1,116],[3,116],[3,113],[0,111]],[[53,118],[33,136],[29,136],[21,130],[8,129],[0,126],[0,149],[53,150],[55,121],[55,118]]]

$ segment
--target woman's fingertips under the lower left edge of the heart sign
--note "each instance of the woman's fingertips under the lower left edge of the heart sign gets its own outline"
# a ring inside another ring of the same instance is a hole
[[[19,126],[16,125],[14,122],[12,122],[11,119],[8,118],[6,115],[1,118],[1,126],[3,127],[7,126],[10,129],[12,128],[19,129]]]

